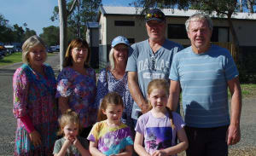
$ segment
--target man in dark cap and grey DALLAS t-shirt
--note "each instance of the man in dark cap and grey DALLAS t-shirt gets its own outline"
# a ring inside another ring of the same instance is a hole
[[[151,9],[145,16],[148,39],[131,45],[126,66],[131,96],[135,101],[131,118],[148,111],[147,88],[154,78],[169,81],[172,57],[183,47],[166,39],[166,16],[160,9]]]

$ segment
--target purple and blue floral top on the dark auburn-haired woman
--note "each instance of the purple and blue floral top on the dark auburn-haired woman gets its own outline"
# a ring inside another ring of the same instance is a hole
[[[83,128],[96,123],[97,107],[96,73],[92,68],[86,68],[86,75],[76,72],[71,67],[62,69],[57,78],[56,97],[68,97],[68,106],[79,114]]]

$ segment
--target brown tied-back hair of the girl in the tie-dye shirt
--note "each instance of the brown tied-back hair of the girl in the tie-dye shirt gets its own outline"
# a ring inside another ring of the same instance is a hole
[[[123,99],[119,94],[117,94],[116,92],[108,93],[108,95],[105,95],[104,98],[102,99],[101,106],[98,110],[97,121],[102,121],[107,119],[107,116],[104,113],[102,113],[102,111],[106,111],[109,104],[115,105],[115,106],[121,105],[122,107],[124,107]]]

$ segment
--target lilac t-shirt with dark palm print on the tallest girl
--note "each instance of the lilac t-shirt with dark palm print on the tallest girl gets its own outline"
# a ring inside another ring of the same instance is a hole
[[[155,150],[175,146],[177,131],[185,125],[183,119],[177,113],[172,113],[175,129],[172,129],[169,115],[164,118],[155,118],[151,111],[144,113],[137,120],[135,130],[144,135],[144,145],[147,153]]]

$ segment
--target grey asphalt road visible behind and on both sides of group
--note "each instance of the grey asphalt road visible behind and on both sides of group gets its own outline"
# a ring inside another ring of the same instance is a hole
[[[55,72],[59,69],[59,55],[49,56],[47,63]],[[16,120],[12,113],[12,77],[21,63],[0,67],[0,156],[13,155]],[[230,147],[230,155],[256,155],[256,98],[243,99],[241,113],[241,142]],[[180,155],[180,154],[179,154]]]

